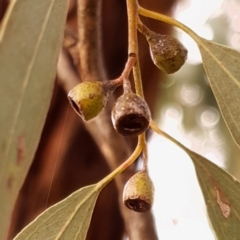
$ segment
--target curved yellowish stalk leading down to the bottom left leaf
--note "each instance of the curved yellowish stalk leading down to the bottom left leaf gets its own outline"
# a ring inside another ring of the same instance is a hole
[[[111,172],[109,175],[107,175],[104,179],[102,179],[98,185],[105,186],[110,181],[112,181],[118,174],[123,172],[126,168],[128,168],[140,155],[142,149],[144,146],[142,145],[142,142],[138,142],[137,147],[135,148],[132,155],[124,162],[122,163],[118,168],[116,168],[113,172]]]

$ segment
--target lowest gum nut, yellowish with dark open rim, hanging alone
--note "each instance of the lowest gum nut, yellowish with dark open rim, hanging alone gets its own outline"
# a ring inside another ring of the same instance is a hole
[[[146,171],[133,175],[123,190],[123,202],[135,212],[146,212],[151,209],[154,187]]]

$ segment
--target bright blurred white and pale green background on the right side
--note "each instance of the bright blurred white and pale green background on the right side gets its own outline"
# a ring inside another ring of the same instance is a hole
[[[174,17],[201,37],[240,50],[239,0],[182,0]],[[183,31],[175,29],[175,35],[188,49],[188,60],[159,85],[158,125],[240,179],[240,151],[223,122],[198,47]],[[156,185],[154,213],[159,238],[214,240],[191,159],[156,134],[150,140],[149,158]]]

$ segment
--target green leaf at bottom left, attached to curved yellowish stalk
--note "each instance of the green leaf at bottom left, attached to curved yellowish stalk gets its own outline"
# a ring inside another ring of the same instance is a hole
[[[85,240],[102,187],[94,184],[74,192],[39,215],[14,240]]]

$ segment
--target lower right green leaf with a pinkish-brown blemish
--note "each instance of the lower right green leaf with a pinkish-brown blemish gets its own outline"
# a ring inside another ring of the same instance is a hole
[[[185,150],[193,160],[217,239],[239,239],[240,183],[214,163],[195,152]]]

